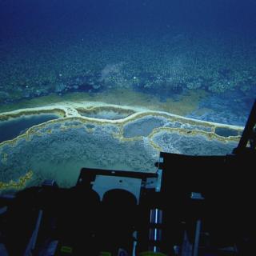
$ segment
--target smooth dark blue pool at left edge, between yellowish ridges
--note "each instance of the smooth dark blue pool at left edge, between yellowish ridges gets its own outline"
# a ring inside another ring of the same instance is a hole
[[[54,114],[38,114],[0,122],[0,143],[23,134],[27,129],[42,122],[57,119]]]

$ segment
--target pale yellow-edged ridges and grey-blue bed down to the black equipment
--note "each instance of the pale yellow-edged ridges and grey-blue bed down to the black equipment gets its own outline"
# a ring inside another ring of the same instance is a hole
[[[33,114],[58,119],[31,126],[0,143],[0,193],[54,179],[74,186],[82,167],[154,172],[160,151],[229,154],[242,127],[99,102],[63,102],[0,114],[0,121]]]

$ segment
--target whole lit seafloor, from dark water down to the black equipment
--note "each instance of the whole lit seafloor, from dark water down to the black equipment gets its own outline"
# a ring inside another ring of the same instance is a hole
[[[237,146],[256,94],[254,38],[56,37],[0,42],[0,193]]]

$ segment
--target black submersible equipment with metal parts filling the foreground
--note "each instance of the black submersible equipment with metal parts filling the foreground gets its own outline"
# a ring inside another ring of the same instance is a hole
[[[160,153],[157,172],[83,168],[0,199],[1,255],[255,254],[256,102],[224,156]]]

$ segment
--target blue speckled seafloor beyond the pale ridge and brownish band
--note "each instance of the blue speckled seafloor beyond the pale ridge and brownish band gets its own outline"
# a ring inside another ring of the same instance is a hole
[[[117,89],[179,101],[201,90],[198,110],[186,116],[242,126],[256,95],[252,36],[174,28],[158,34],[82,33],[65,40],[30,38],[29,45],[26,38],[1,41],[0,55],[0,106]],[[122,105],[125,97],[119,98]]]

